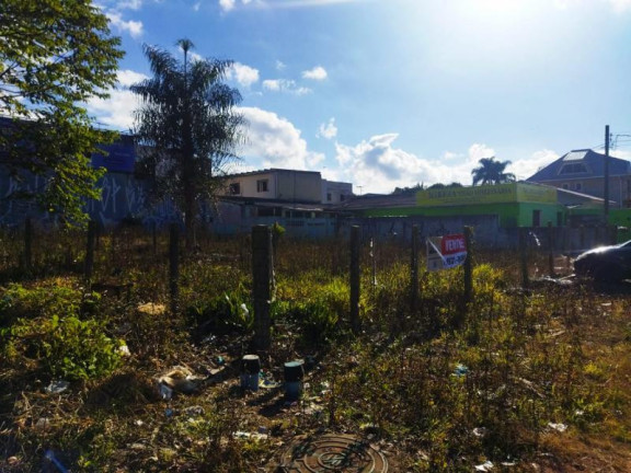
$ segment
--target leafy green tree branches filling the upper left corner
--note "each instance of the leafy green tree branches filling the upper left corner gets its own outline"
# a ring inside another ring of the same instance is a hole
[[[115,134],[92,126],[84,103],[107,97],[116,82],[121,39],[85,0],[2,0],[0,134],[2,161],[21,186],[10,198],[34,200],[69,224],[87,220],[84,201],[100,198],[97,143]]]

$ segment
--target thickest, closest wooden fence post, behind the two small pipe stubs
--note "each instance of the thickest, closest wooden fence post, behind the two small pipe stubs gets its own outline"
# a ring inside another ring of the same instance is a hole
[[[266,351],[272,345],[272,230],[267,226],[252,228],[252,299],[254,302],[254,345]]]

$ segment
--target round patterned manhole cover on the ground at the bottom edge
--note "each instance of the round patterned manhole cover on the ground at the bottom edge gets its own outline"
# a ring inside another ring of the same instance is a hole
[[[370,443],[348,435],[328,434],[301,438],[280,458],[287,473],[386,473],[388,461]]]

